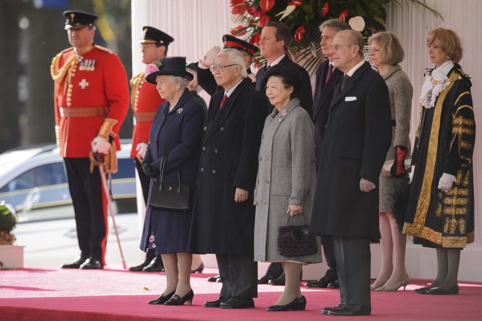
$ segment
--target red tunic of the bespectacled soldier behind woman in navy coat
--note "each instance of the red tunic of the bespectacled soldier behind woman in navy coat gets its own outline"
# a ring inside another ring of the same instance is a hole
[[[145,73],[141,72],[131,79],[131,105],[136,118],[132,132],[131,157],[136,157],[138,143],[149,141],[154,114],[165,101],[159,95],[156,85],[146,82],[145,76]]]

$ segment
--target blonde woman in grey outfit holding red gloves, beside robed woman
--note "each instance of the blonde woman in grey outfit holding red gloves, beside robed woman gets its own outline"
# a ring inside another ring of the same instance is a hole
[[[390,32],[370,37],[370,57],[385,79],[392,109],[392,148],[387,161],[393,161],[391,177],[380,175],[380,233],[382,238],[382,268],[372,285],[375,291],[396,291],[409,283],[405,269],[406,236],[401,233],[405,211],[397,210],[398,198],[405,197],[408,176],[404,159],[410,150],[410,111],[413,87],[400,65],[404,52],[400,40]],[[400,212],[400,213],[398,213]],[[398,223],[398,224],[397,224]],[[400,224],[400,226],[398,226]],[[393,255],[392,255],[393,254]],[[392,258],[394,257],[394,259]],[[394,263],[395,264],[394,264]]]

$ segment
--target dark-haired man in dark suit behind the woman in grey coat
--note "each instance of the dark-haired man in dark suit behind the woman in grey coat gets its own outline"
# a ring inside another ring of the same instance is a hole
[[[298,70],[301,76],[300,105],[306,109],[310,117],[313,117],[313,93],[311,91],[310,75],[287,55],[292,40],[290,29],[283,23],[270,21],[263,28],[261,31],[260,50],[261,56],[266,58],[267,63],[256,73],[256,90],[261,91],[265,95],[266,83],[263,81],[263,74],[271,66],[289,64]],[[268,98],[266,99],[268,101]],[[274,106],[271,106],[270,112],[273,108]]]

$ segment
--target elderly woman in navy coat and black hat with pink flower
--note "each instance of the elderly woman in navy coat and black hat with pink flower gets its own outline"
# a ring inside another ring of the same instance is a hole
[[[142,168],[152,181],[157,181],[161,158],[167,156],[163,182],[177,182],[179,169],[181,184],[189,185],[191,211],[196,194],[204,111],[186,88],[193,76],[185,66],[185,57],[169,57],[146,67],[146,80],[157,84],[159,94],[166,101],[159,106],[154,117],[149,134],[150,145]],[[162,255],[167,278],[163,294],[149,304],[181,305],[186,301],[188,304],[192,302],[194,293],[189,280],[192,254],[186,253],[190,224],[190,212],[147,210],[141,250],[155,248]]]

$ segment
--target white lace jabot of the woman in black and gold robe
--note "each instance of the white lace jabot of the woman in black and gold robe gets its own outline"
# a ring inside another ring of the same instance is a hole
[[[455,66],[454,63],[449,60],[434,69],[430,75],[425,76],[420,95],[420,102],[425,108],[434,107],[438,95],[450,84],[447,74],[453,66]]]

